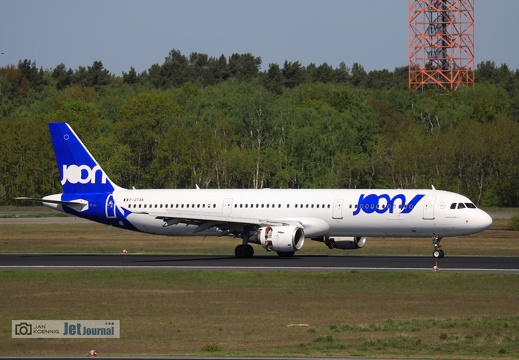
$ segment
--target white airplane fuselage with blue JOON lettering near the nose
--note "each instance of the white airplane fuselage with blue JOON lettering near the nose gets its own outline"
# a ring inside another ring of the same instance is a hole
[[[121,190],[114,200],[137,229],[162,235],[219,234],[194,233],[197,226],[186,223],[165,226],[163,217],[184,216],[299,222],[305,237],[458,236],[492,222],[468,198],[438,190]]]

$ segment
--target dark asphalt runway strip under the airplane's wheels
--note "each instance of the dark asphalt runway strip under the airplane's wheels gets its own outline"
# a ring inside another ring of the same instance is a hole
[[[1,254],[0,270],[440,271],[519,274],[517,257]]]

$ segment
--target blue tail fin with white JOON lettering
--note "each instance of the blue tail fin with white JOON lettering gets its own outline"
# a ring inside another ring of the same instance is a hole
[[[63,193],[108,193],[120,189],[101,169],[67,123],[49,123]]]

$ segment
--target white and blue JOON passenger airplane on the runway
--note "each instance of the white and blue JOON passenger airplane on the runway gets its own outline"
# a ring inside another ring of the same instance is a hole
[[[125,189],[110,180],[67,123],[49,123],[63,192],[39,198],[52,209],[114,227],[169,236],[240,238],[281,257],[305,238],[330,249],[353,250],[366,237],[441,240],[484,231],[492,218],[467,197],[432,189]]]

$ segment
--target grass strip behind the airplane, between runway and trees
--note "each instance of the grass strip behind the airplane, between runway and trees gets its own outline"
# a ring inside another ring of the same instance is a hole
[[[0,225],[2,253],[175,253],[233,254],[238,239],[230,237],[164,237],[111,228],[96,223]],[[445,238],[447,256],[519,256],[519,233],[488,230],[480,234]],[[255,247],[258,253],[263,249]],[[366,246],[354,251],[330,250],[307,239],[298,254],[333,255],[430,255],[428,238],[368,238]]]

